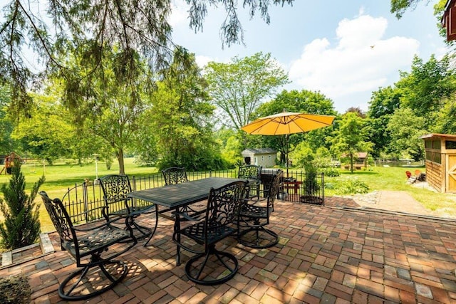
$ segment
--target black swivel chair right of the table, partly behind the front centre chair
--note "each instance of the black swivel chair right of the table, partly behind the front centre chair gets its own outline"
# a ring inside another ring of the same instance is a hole
[[[269,248],[276,245],[279,236],[265,226],[274,211],[274,201],[279,193],[283,172],[279,170],[271,179],[266,198],[249,199],[239,211],[238,241],[252,248]],[[252,233],[253,232],[253,233]]]

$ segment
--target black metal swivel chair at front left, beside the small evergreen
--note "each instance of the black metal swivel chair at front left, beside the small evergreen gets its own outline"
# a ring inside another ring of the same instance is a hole
[[[130,224],[126,229],[113,226],[114,221],[101,221],[86,228],[74,226],[66,207],[60,199],[50,199],[46,192],[39,192],[51,221],[61,239],[62,250],[76,259],[80,270],[71,273],[58,287],[58,295],[64,300],[85,300],[110,290],[125,278],[128,266],[114,260],[137,243]],[[115,221],[122,220],[117,218]],[[126,242],[126,243],[125,243]],[[108,248],[124,243],[122,250],[110,253]]]

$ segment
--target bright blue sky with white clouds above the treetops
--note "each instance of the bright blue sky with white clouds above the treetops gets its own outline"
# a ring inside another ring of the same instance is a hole
[[[245,46],[224,49],[222,9],[209,10],[203,32],[195,33],[188,26],[188,6],[174,0],[170,21],[173,40],[195,53],[199,65],[271,53],[289,73],[291,83],[284,89],[319,90],[345,112],[367,110],[372,92],[393,85],[399,70],[410,70],[415,54],[427,61],[447,51],[433,14],[436,1],[421,2],[399,20],[390,14],[387,0],[295,0],[293,6],[272,6],[269,25],[259,14],[250,20],[249,12],[240,9]]]

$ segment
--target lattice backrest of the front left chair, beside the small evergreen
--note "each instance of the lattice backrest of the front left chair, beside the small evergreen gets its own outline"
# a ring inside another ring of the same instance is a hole
[[[43,199],[44,206],[48,211],[52,224],[60,236],[62,247],[66,247],[66,243],[76,243],[76,231],[73,229],[73,223],[66,211],[65,206],[60,199],[50,199],[44,191],[39,192]]]

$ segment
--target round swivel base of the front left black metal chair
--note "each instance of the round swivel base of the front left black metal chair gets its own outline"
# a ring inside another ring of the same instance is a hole
[[[105,268],[105,266],[113,264],[117,265],[115,268],[122,267],[122,272],[118,272],[120,276],[115,278],[113,274],[109,273],[108,270]],[[96,286],[90,285],[87,286],[86,288],[83,288],[84,285],[90,284],[90,282],[95,282],[96,280],[90,280],[87,277],[88,271],[90,271],[91,268],[98,267],[100,268],[100,271],[105,275],[106,278],[110,281],[108,285],[105,285],[103,288],[96,288]],[[101,293],[104,293],[107,290],[112,289],[115,285],[117,285],[120,281],[127,276],[128,273],[128,266],[126,263],[123,261],[104,261],[103,263],[90,263],[89,265],[83,267],[82,269],[75,271],[74,273],[71,273],[68,278],[66,278],[61,285],[58,287],[58,295],[63,299],[63,300],[86,300],[88,298],[92,298],[95,295],[100,295]],[[76,280],[75,283],[68,285],[68,283],[71,283],[73,278],[78,277],[79,278]],[[67,286],[68,285],[68,286]],[[81,288],[83,290],[95,290],[89,293],[83,293],[81,292]]]

